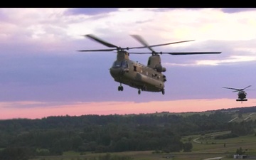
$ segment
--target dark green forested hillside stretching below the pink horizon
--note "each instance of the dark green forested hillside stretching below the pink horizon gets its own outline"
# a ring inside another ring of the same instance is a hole
[[[63,151],[190,151],[181,137],[230,130],[232,136],[252,134],[256,121],[229,122],[233,114],[256,107],[211,111],[210,114],[58,116],[0,121],[0,159],[8,153],[26,156],[61,155]],[[219,137],[225,138],[225,137]],[[5,158],[3,158],[5,157]],[[25,157],[24,159],[27,159]]]

